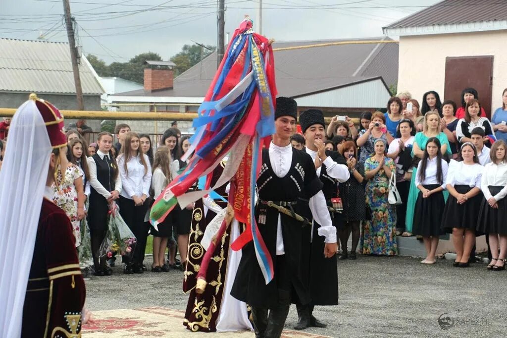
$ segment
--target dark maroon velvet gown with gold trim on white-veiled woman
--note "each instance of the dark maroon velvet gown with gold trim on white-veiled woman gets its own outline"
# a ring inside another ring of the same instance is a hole
[[[81,337],[85,283],[65,212],[44,198],[23,307],[22,337]]]

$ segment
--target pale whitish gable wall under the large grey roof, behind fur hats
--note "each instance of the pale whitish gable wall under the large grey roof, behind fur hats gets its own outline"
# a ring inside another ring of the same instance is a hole
[[[295,99],[301,107],[383,108],[389,98],[389,91],[378,79]]]

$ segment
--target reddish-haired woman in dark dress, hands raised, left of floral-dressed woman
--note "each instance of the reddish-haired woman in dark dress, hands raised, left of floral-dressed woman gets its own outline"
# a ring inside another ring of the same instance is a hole
[[[365,165],[357,161],[357,148],[352,141],[342,146],[342,155],[347,160],[350,178],[339,184],[340,197],[343,203],[343,226],[338,230],[342,255],[340,259],[356,259],[356,249],[359,243],[359,222],[366,219],[365,201]],[[352,232],[352,247],[347,255],[347,242]]]

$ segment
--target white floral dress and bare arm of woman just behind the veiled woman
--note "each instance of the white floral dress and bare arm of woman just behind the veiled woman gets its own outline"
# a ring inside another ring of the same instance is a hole
[[[67,214],[74,236],[76,247],[81,245],[80,222],[85,217],[85,194],[83,176],[76,164],[69,162],[59,186],[53,184],[54,201]]]

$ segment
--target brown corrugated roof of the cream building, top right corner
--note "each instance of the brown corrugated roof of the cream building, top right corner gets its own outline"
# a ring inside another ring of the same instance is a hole
[[[444,0],[385,29],[507,20],[507,0]]]

